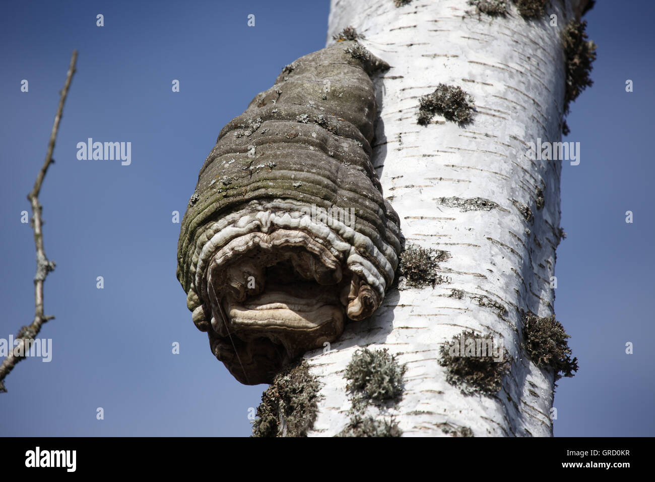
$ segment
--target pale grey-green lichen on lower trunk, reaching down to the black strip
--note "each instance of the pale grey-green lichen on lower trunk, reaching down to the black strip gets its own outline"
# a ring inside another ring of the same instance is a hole
[[[337,437],[400,437],[402,431],[393,417],[367,415],[369,405],[396,403],[403,393],[403,375],[407,367],[384,350],[355,351],[346,366],[346,390],[352,395],[350,421]]]

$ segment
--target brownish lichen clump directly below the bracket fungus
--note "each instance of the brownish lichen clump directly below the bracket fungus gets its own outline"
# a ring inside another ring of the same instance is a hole
[[[276,375],[261,395],[253,437],[306,437],[314,426],[320,382],[307,361]]]

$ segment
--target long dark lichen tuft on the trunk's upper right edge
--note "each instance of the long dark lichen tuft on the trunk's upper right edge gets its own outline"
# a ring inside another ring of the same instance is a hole
[[[566,59],[566,90],[564,94],[564,115],[569,113],[569,105],[582,90],[591,87],[593,81],[589,77],[591,65],[596,60],[595,43],[587,40],[587,22],[571,20],[562,33],[562,45]],[[569,134],[569,127],[563,121],[562,133]]]

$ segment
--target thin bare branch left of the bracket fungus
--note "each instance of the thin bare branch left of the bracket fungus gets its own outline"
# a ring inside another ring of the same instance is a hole
[[[20,331],[18,331],[18,335],[16,335],[18,345],[16,347],[9,347],[9,353],[3,360],[2,365],[0,365],[0,393],[7,392],[3,380],[5,380],[5,376],[14,369],[16,363],[21,361],[27,354],[27,351],[29,351],[29,346],[31,345],[29,340],[36,338],[39,331],[41,331],[41,325],[43,325],[43,323],[54,319],[54,316],[43,315],[43,282],[48,273],[54,270],[55,263],[54,261],[48,260],[45,255],[45,250],[43,249],[43,233],[41,231],[43,221],[41,220],[42,207],[39,204],[39,193],[41,192],[41,185],[43,184],[45,174],[48,172],[48,167],[50,167],[50,164],[54,163],[54,159],[52,159],[52,151],[54,151],[54,143],[57,138],[59,123],[62,119],[62,112],[64,111],[64,102],[66,101],[68,88],[71,85],[73,74],[75,73],[75,62],[77,62],[77,50],[73,50],[71,63],[68,67],[68,72],[66,73],[64,89],[60,92],[59,107],[54,116],[52,132],[50,132],[50,141],[48,142],[48,151],[45,155],[45,162],[41,167],[41,171],[39,171],[39,174],[37,175],[34,187],[28,194],[28,201],[32,207],[31,224],[34,230],[34,244],[37,253],[37,272],[34,275],[34,321],[32,321],[31,325],[24,326]]]

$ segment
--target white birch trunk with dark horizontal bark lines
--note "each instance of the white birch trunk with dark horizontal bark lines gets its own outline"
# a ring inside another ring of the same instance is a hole
[[[348,323],[330,351],[305,354],[322,382],[310,435],[348,424],[344,371],[363,347],[388,348],[406,363],[402,399],[382,412],[405,436],[552,435],[553,372],[520,350],[520,310],[553,315],[562,161],[531,160],[526,151],[538,138],[561,140],[561,31],[580,8],[574,4],[553,0],[542,18],[525,20],[509,2],[506,16],[492,17],[465,0],[332,0],[328,45],[352,26],[391,66],[375,79],[373,163],[384,197],[407,244],[451,257],[440,263],[445,283],[392,289],[373,317]],[[417,123],[419,97],[440,83],[473,96],[471,123]],[[514,358],[497,395],[463,395],[446,381],[440,348],[464,330],[502,340]]]

